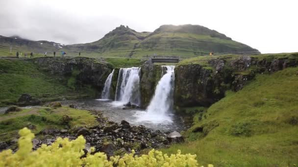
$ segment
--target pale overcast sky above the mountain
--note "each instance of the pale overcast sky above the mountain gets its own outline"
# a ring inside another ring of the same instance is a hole
[[[94,42],[120,24],[199,24],[262,53],[298,52],[298,0],[0,0],[0,35]]]

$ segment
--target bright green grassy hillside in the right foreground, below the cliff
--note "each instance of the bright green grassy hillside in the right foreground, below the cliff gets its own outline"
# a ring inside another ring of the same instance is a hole
[[[298,67],[256,76],[242,90],[208,108],[186,132],[189,143],[163,149],[195,153],[201,165],[294,166],[298,164]],[[195,127],[216,120],[219,126],[202,138]],[[194,141],[193,141],[194,140]]]

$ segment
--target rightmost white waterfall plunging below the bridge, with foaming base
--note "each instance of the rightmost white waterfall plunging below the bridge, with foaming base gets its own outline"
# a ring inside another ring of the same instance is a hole
[[[162,75],[166,73],[158,82],[154,96],[146,111],[136,113],[139,122],[154,122],[159,124],[172,122],[170,115],[173,110],[174,67],[172,65],[161,67]]]

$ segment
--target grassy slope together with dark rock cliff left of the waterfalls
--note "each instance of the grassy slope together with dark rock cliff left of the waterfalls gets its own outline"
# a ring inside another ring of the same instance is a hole
[[[91,58],[0,59],[0,105],[28,93],[42,102],[97,98],[113,67]]]

